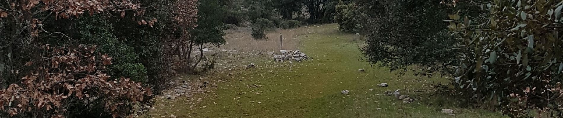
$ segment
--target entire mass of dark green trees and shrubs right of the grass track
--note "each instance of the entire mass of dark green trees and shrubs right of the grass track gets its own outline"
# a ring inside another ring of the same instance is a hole
[[[556,1],[358,0],[336,18],[343,31],[372,32],[362,49],[372,64],[452,76],[450,94],[494,101],[511,117],[561,117],[561,9]],[[354,26],[355,10],[369,22]]]

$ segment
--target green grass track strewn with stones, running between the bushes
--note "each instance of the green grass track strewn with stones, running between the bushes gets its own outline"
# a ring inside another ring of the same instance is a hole
[[[203,98],[200,103],[191,104],[195,101],[187,98],[163,100],[157,109],[164,110],[151,114],[153,117],[160,117],[163,112],[178,117],[502,117],[494,112],[455,107],[451,101],[426,98],[431,93],[414,93],[414,89],[431,89],[428,85],[447,80],[398,75],[387,68],[373,68],[360,61],[363,54],[359,43],[351,41],[354,35],[338,32],[336,27],[334,24],[312,27],[310,34],[300,37],[301,51],[313,60],[273,65],[269,60],[256,62],[257,69],[243,70],[231,81],[219,83],[213,92],[196,96]],[[366,73],[358,69],[365,69]],[[377,87],[381,82],[390,87]],[[247,87],[252,84],[262,86]],[[370,88],[374,91],[368,91]],[[350,95],[342,95],[343,89],[349,89]],[[405,104],[391,96],[376,95],[394,89],[422,100]],[[441,108],[454,109],[456,114],[441,114]]]

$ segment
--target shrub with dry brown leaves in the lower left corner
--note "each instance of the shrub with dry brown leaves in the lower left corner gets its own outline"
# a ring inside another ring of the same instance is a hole
[[[99,117],[131,117],[148,105],[150,89],[127,78],[110,80],[102,70],[111,64],[111,57],[95,54],[95,47],[45,45],[42,49],[48,50],[48,56],[26,65],[47,65],[35,65],[40,68],[21,78],[21,83],[0,90],[0,116],[78,117],[77,110],[102,107],[107,114]]]

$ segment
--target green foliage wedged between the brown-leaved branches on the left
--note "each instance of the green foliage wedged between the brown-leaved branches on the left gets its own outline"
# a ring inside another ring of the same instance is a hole
[[[133,48],[117,39],[113,34],[113,25],[107,18],[99,15],[81,17],[75,25],[81,42],[97,45],[97,51],[113,57],[113,65],[108,74],[112,78],[131,78],[136,82],[145,82],[147,73],[144,65],[138,63],[138,54]]]

